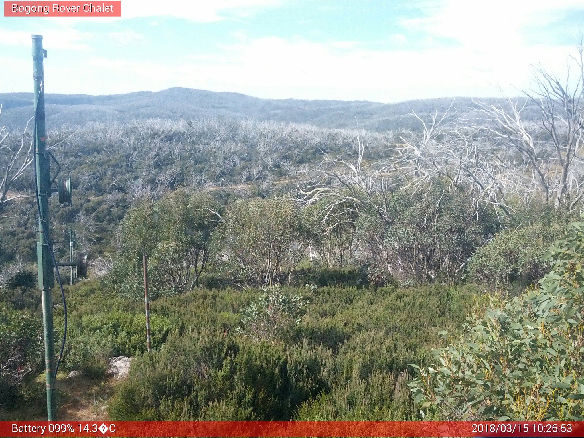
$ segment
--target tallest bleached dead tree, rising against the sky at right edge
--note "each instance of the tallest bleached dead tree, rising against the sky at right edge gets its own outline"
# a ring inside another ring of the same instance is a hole
[[[556,208],[573,210],[584,200],[584,62],[580,40],[572,57],[578,73],[570,69],[561,79],[544,68],[534,68],[536,89],[525,92],[523,105],[507,99],[505,107],[475,102],[474,116],[462,123],[475,136],[484,136],[495,153],[488,161],[497,175],[506,175],[509,193],[540,193]],[[540,119],[527,124],[522,110],[533,102]]]

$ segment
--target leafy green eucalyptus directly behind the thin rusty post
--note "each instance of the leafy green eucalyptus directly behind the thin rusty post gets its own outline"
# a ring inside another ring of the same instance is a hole
[[[193,288],[210,259],[211,235],[221,216],[208,193],[175,190],[143,199],[120,226],[121,248],[109,281],[129,296],[142,293],[142,256],[148,256],[153,297]]]

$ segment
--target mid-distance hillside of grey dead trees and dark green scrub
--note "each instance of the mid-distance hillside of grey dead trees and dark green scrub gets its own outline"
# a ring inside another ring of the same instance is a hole
[[[234,194],[265,197],[287,193],[298,175],[310,173],[325,155],[350,157],[360,141],[369,147],[368,159],[387,157],[394,137],[394,133],[217,119],[90,123],[53,129],[48,141],[55,145],[62,172],[74,180],[75,198],[72,206],[53,204],[54,232],[61,240],[58,233],[65,232],[66,224],[76,223],[81,248],[112,256],[121,218],[144,196],[157,199],[179,187],[210,189],[224,202]],[[10,133],[5,141],[16,147],[22,136]],[[23,152],[20,155],[20,159],[30,159]],[[26,172],[11,185],[9,194],[27,197],[2,206],[6,216],[0,218],[4,225],[0,230],[2,262],[36,258],[32,186],[33,177]]]

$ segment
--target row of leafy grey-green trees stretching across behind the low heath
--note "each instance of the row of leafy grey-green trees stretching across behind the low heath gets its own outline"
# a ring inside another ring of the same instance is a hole
[[[140,297],[147,255],[154,296],[201,285],[296,284],[311,268],[350,266],[374,286],[468,279],[527,286],[547,272],[545,252],[575,218],[534,199],[502,222],[464,187],[451,193],[439,182],[413,194],[397,189],[386,201],[391,222],[347,203],[303,207],[290,194],[228,203],[184,189],[146,197],[121,222],[108,281]]]

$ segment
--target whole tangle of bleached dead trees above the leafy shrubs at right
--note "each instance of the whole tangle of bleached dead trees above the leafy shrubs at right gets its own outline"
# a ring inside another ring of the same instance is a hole
[[[368,250],[381,263],[390,260],[393,251],[383,235],[395,220],[396,211],[388,204],[397,187],[422,200],[432,187],[444,190],[443,194],[462,189],[477,218],[485,206],[512,217],[517,199],[534,196],[551,201],[556,208],[582,207],[583,53],[580,41],[578,57],[572,58],[578,66],[575,81],[569,72],[562,81],[543,68],[534,69],[537,90],[526,92],[522,102],[507,99],[506,104],[491,105],[480,101],[460,110],[451,105],[430,120],[412,112],[422,133],[401,135],[401,144],[387,159],[364,161],[365,145],[358,139],[356,158],[326,157],[316,169],[307,169],[298,185],[300,200],[318,203],[324,220],[341,205],[369,217]],[[539,109],[539,121],[526,122],[523,110],[528,102]],[[504,226],[502,221],[500,226]],[[388,270],[399,263],[404,259],[390,260]]]

